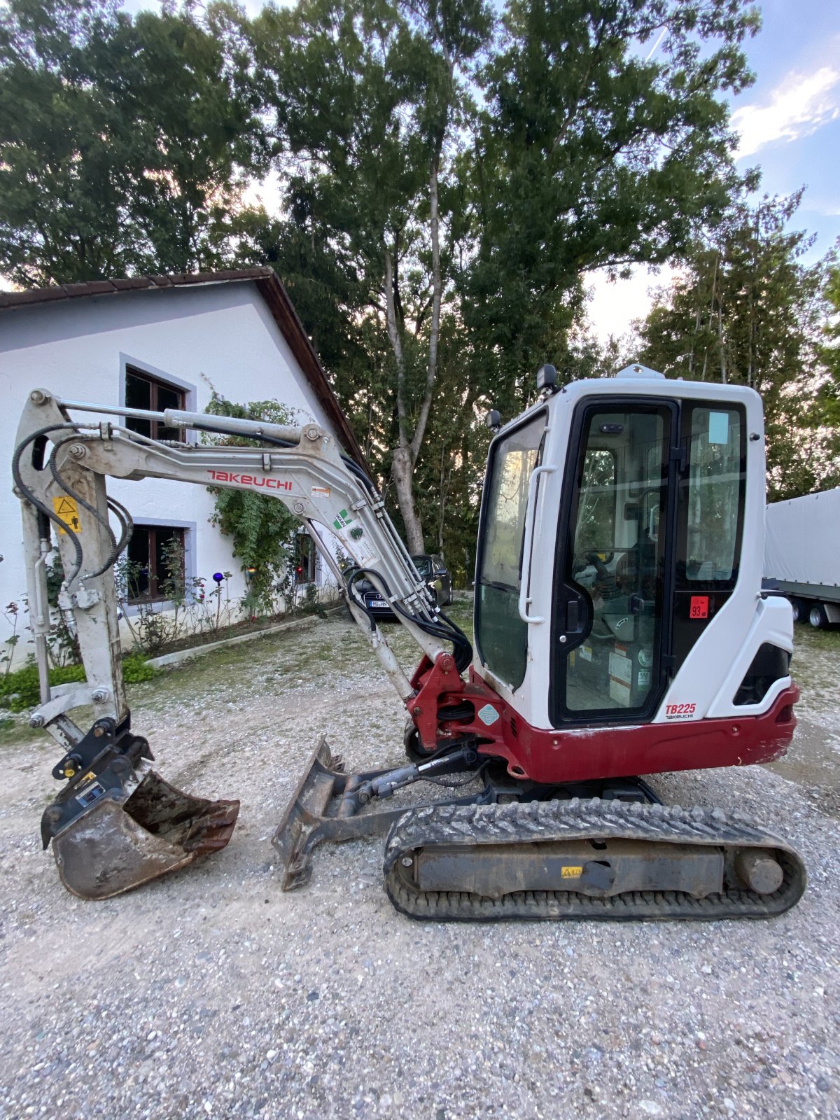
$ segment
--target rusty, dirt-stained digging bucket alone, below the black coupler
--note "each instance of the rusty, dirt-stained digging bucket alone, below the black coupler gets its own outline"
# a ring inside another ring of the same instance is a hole
[[[53,840],[58,875],[80,898],[111,898],[224,848],[239,801],[193,797],[149,771],[128,801],[102,797]]]

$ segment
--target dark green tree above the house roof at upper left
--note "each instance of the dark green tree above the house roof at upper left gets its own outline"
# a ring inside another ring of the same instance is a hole
[[[263,166],[235,13],[0,11],[0,271],[21,287],[216,267]]]

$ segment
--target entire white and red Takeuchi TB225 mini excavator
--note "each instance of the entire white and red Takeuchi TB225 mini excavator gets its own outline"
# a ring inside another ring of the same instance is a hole
[[[638,776],[771,762],[793,735],[791,607],[762,589],[760,399],[642,366],[556,382],[543,366],[533,407],[504,427],[491,414],[475,652],[375,486],[317,424],[30,393],[12,472],[40,671],[31,724],[63,752],[41,836],[68,890],[108,898],[180,868],[223,848],[239,811],[165,782],[131,727],[113,564],[132,522],[112,477],[282,502],[408,709],[400,767],[346,774],[318,744],[273,838],[286,889],[308,881],[318,843],[384,834],[388,895],[419,918],[764,917],[799,900],[805,871],[783,840],[721,809],[666,808]],[[127,418],[250,444],[157,441]],[[56,545],[86,672],[63,690],[47,672]],[[411,676],[363,579],[420,647]],[[85,729],[68,712],[88,704]],[[407,803],[413,785],[427,796]]]

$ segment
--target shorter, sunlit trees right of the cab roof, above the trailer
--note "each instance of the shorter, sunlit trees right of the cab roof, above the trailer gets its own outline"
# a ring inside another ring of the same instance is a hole
[[[802,263],[812,239],[787,228],[801,194],[734,206],[641,327],[645,364],[762,394],[773,500],[806,494],[831,477],[827,433],[814,412],[822,268]]]

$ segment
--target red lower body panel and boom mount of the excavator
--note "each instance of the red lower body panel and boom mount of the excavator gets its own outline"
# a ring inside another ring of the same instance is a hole
[[[479,754],[505,758],[514,777],[545,784],[773,762],[793,738],[800,696],[791,685],[762,716],[545,731],[526,724],[472,670],[469,678],[465,683],[458,676],[448,654],[435,664],[424,657],[418,666],[409,712],[423,747],[433,750],[447,739],[476,736],[485,740]],[[438,718],[440,709],[467,702],[474,716]]]

